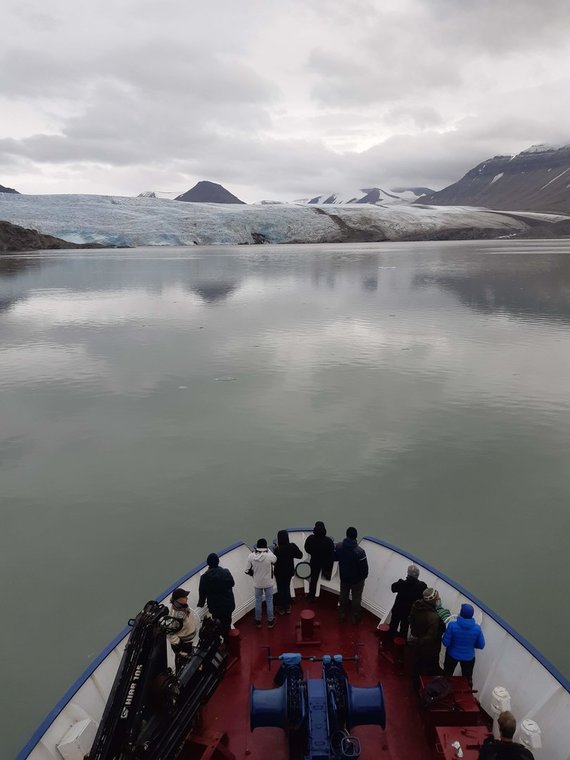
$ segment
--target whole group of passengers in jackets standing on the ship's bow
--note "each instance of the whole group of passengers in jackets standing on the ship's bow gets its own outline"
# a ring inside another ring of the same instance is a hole
[[[334,562],[338,562],[340,579],[339,622],[344,623],[350,613],[353,623],[362,617],[362,592],[368,577],[366,552],[358,545],[356,528],[349,527],[343,541],[335,544],[327,535],[325,525],[317,521],[312,533],[307,537],[304,549],[309,556],[310,581],[308,600],[316,598],[317,585],[322,576],[330,580]],[[291,580],[295,574],[295,560],[300,560],[303,552],[289,539],[286,530],[280,530],[271,549],[265,538],[260,538],[249,554],[245,573],[251,575],[255,592],[255,622],[262,627],[262,602],[265,598],[267,627],[276,624],[273,596],[274,581],[277,586],[277,613],[291,613]],[[207,557],[208,569],[200,577],[198,607],[208,605],[213,618],[220,624],[221,634],[227,637],[231,628],[232,613],[235,609],[231,572],[220,567],[217,554]],[[472,682],[475,665],[475,650],[485,647],[485,638],[474,619],[474,609],[470,604],[462,604],[458,616],[443,606],[437,590],[428,588],[419,580],[420,571],[410,565],[406,578],[400,578],[392,586],[396,599],[391,610],[390,633],[408,639],[412,652],[412,673],[416,687],[420,675],[441,673],[439,665],[441,645],[446,647],[443,673],[454,674],[457,665],[461,673]],[[175,652],[176,669],[192,653],[192,642],[199,625],[197,615],[188,605],[189,592],[177,588],[171,595],[171,616],[181,622],[180,630],[169,636]],[[408,636],[409,633],[409,636]],[[481,748],[480,760],[533,760],[533,755],[525,747],[513,741],[516,720],[512,713],[503,712],[498,719],[500,739],[492,738]]]

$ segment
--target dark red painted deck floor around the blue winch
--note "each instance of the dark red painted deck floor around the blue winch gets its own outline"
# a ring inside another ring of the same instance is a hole
[[[204,710],[205,734],[225,732],[229,737],[228,749],[238,760],[288,760],[289,750],[285,732],[277,728],[249,730],[249,690],[253,683],[260,688],[271,688],[278,668],[273,662],[267,666],[267,650],[277,656],[283,652],[302,652],[303,655],[324,654],[354,655],[356,642],[362,659],[360,673],[354,662],[346,662],[349,680],[354,686],[374,686],[378,681],[384,687],[387,723],[384,731],[380,726],[362,726],[354,729],[362,745],[362,760],[432,760],[435,755],[430,747],[421,720],[417,695],[410,680],[397,668],[378,654],[375,633],[377,618],[365,613],[358,625],[337,622],[338,597],[323,592],[312,605],[297,596],[291,615],[277,616],[277,625],[268,630],[264,621],[262,630],[255,627],[253,613],[239,621],[241,633],[241,658],[226,673]],[[295,624],[304,608],[315,611],[320,622],[319,646],[299,647],[295,638]],[[303,662],[305,677],[320,678],[320,662]],[[302,755],[300,756],[302,757]]]

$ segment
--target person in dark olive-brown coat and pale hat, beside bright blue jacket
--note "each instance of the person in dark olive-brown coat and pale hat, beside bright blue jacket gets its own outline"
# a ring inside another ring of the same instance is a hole
[[[416,689],[420,686],[420,674],[436,676],[441,673],[439,653],[445,625],[437,614],[436,601],[437,591],[426,588],[422,598],[413,603],[410,612],[412,682]]]

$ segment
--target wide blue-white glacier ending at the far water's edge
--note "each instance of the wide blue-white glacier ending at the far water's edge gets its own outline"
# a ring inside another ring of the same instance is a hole
[[[168,246],[496,238],[525,234],[531,225],[555,230],[566,217],[445,206],[226,205],[3,193],[0,219],[74,243]]]

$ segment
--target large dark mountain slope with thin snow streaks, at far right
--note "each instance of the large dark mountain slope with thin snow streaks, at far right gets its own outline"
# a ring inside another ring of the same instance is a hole
[[[533,145],[516,156],[495,156],[419,203],[570,214],[570,144]]]

